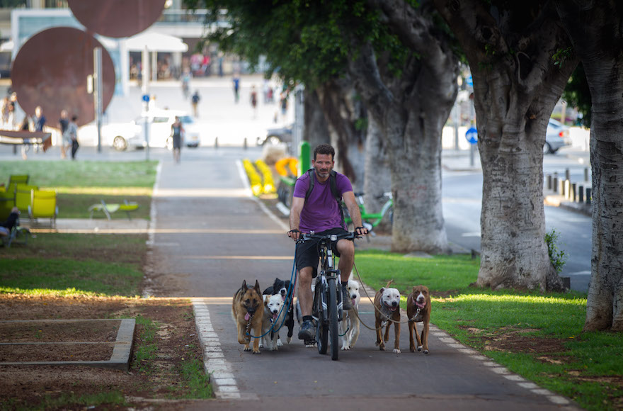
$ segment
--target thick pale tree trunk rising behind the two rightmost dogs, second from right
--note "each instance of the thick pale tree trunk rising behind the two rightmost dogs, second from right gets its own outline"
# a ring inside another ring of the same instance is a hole
[[[551,111],[577,64],[573,55],[562,62],[552,58],[569,46],[568,38],[549,3],[503,9],[480,0],[435,4],[474,79],[483,169],[477,284],[562,291],[544,242],[542,148]]]

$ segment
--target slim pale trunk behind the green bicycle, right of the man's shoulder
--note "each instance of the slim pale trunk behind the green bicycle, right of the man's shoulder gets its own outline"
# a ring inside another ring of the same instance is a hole
[[[372,116],[367,118],[367,138],[365,141],[365,210],[367,213],[379,213],[384,200],[383,193],[391,192],[391,172],[389,167],[389,153],[382,136],[379,124]],[[391,232],[391,221],[385,215],[381,223],[375,227],[375,232]]]

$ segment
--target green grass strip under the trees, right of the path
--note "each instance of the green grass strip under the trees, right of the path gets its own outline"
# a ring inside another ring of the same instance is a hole
[[[394,280],[403,308],[413,286],[428,286],[431,322],[510,371],[587,410],[621,409],[623,333],[582,332],[586,294],[473,288],[479,261],[469,255],[427,259],[371,250],[357,252],[355,264],[376,290]]]

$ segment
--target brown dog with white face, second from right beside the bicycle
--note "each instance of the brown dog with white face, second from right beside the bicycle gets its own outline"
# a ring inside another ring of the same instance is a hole
[[[389,327],[394,322],[394,352],[400,352],[400,291],[397,288],[381,288],[375,295],[375,328],[377,342],[381,351],[385,351],[385,342],[389,340]],[[391,321],[390,321],[391,320]],[[382,338],[382,328],[385,327],[385,337]]]

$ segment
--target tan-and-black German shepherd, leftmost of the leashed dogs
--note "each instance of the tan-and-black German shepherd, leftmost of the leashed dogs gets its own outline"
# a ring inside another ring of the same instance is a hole
[[[242,286],[234,294],[232,302],[232,317],[238,327],[238,342],[244,344],[244,351],[251,351],[249,344],[251,337],[246,333],[253,334],[257,337],[262,334],[262,317],[264,311],[264,302],[262,299],[262,291],[260,284],[256,280],[253,287],[246,285],[246,280],[242,281]],[[260,339],[253,339],[253,354],[260,354]]]

